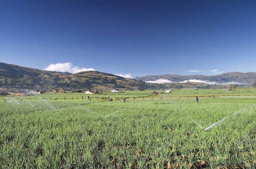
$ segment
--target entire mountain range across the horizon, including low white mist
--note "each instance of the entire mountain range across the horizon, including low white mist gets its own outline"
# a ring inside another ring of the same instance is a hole
[[[231,87],[232,84],[252,85],[254,83],[256,85],[255,72],[230,72],[215,76],[164,74],[129,79],[98,71],[62,73],[0,62],[0,86],[10,88],[87,88],[102,90],[112,88],[216,88],[216,86],[227,88]]]

